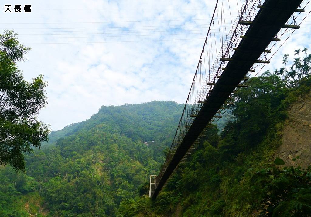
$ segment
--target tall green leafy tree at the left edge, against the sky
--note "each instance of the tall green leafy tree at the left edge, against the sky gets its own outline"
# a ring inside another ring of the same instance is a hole
[[[12,31],[0,34],[0,166],[25,169],[25,152],[48,140],[49,126],[37,120],[47,103],[43,75],[25,81],[16,62],[30,50]]]

